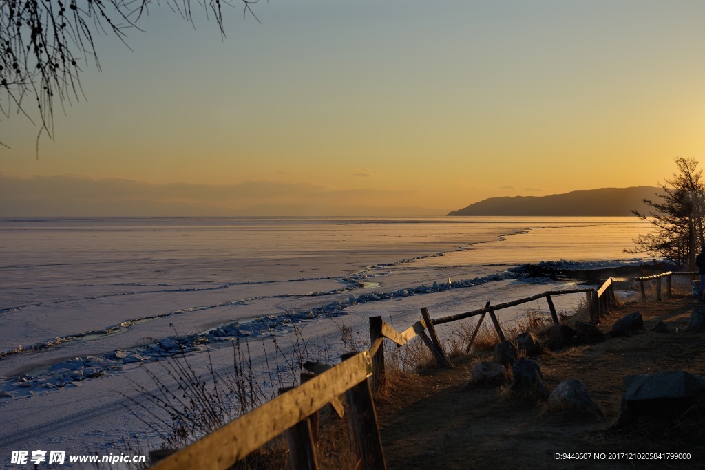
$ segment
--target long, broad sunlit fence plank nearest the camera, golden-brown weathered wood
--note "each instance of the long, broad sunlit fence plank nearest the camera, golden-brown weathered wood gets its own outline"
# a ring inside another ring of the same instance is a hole
[[[353,386],[362,381],[367,383],[371,374],[369,352],[357,353],[295,390],[197,440],[152,469],[226,469]]]

